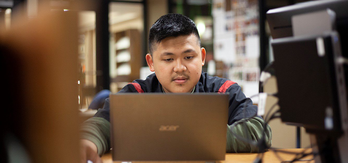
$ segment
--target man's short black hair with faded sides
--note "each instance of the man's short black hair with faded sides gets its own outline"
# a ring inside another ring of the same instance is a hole
[[[201,46],[197,26],[190,18],[177,13],[161,16],[150,28],[149,49],[151,56],[155,50],[155,44],[160,43],[165,38],[189,34],[196,35],[199,46]]]

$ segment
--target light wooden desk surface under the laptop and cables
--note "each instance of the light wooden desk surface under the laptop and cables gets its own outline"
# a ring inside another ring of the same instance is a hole
[[[301,153],[304,149],[279,149],[279,150],[282,150],[284,152],[289,152],[289,153],[278,152],[279,157],[281,157],[283,161],[288,161],[288,160],[293,160],[295,158],[295,154],[291,154],[291,153]],[[306,150],[306,153],[312,152],[311,148],[308,148],[305,150]],[[233,163],[252,163],[255,160],[257,155],[258,155],[257,153],[226,153],[224,162],[225,163],[232,163],[232,162]],[[305,159],[307,160],[312,158],[313,156],[310,155],[310,156],[302,158],[302,160],[305,160]],[[113,163],[111,153],[104,154],[102,156],[102,160],[103,160],[103,163]],[[173,162],[174,161],[168,161],[166,163],[173,163]],[[263,155],[263,162],[264,163],[279,163],[281,161],[279,160],[279,158],[273,151],[268,151],[268,152],[265,152]],[[140,163],[140,161],[136,161],[135,163]],[[146,162],[146,163],[149,163],[149,162]],[[184,162],[179,161],[179,163],[184,163]],[[205,163],[205,162],[204,161],[189,161],[185,163]],[[308,163],[308,161],[306,163]],[[314,163],[314,160],[309,161],[309,163]]]

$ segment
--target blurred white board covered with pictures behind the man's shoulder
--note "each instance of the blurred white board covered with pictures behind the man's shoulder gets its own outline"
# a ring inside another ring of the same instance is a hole
[[[229,66],[229,79],[246,97],[259,92],[260,36],[257,0],[214,0],[214,59]],[[258,103],[258,98],[252,98]]]

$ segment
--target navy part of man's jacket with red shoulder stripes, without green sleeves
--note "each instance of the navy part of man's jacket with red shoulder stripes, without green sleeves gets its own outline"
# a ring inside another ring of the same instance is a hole
[[[139,88],[140,85],[140,88]],[[119,93],[125,92],[163,92],[162,85],[159,83],[156,74],[149,75],[145,80],[137,79],[133,83],[128,83],[122,88]],[[209,76],[208,73],[202,71],[200,79],[196,84],[195,92],[228,92],[229,110],[228,110],[228,125],[245,118],[243,115],[243,106],[245,108],[245,116],[252,117],[256,115],[257,106],[253,105],[250,98],[246,98],[240,86],[228,79],[219,78],[217,76]],[[246,104],[245,104],[246,103]],[[110,122],[110,99],[105,100],[104,108],[99,109],[94,117],[102,117]],[[261,117],[260,117],[261,118]]]

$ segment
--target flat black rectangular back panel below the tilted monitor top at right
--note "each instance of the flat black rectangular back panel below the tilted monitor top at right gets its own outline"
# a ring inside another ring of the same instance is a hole
[[[333,38],[319,38],[323,39],[322,56],[316,37],[272,41],[278,104],[283,122],[298,123],[306,129],[340,130]],[[326,123],[327,118],[330,123]]]

